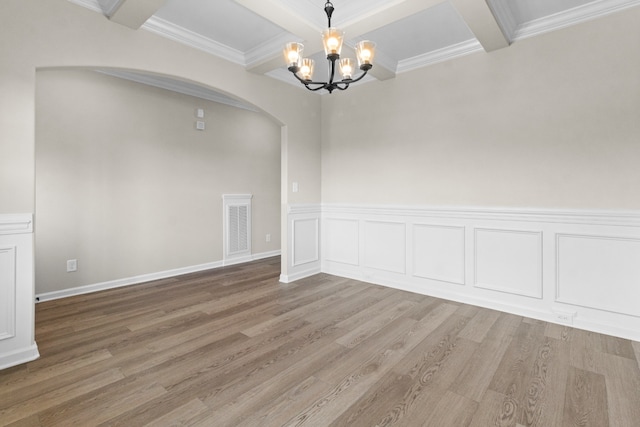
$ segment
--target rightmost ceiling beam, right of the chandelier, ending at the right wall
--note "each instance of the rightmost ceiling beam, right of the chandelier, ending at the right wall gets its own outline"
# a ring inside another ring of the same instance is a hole
[[[453,5],[486,52],[509,46],[509,40],[502,32],[486,1],[453,0]]]

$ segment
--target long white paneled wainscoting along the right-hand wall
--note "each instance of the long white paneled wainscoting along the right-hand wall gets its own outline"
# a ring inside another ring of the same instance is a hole
[[[640,213],[320,210],[323,272],[640,341]]]

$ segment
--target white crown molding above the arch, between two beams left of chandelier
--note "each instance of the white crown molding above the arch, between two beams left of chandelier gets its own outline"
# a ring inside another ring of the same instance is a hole
[[[227,61],[245,66],[243,52],[222,43],[218,43],[215,40],[203,37],[200,34],[194,33],[193,31],[187,30],[179,25],[172,24],[164,19],[152,16],[147,20],[147,22],[145,22],[142,28],[162,37],[177,41],[178,43],[203,50],[212,55],[226,59]]]

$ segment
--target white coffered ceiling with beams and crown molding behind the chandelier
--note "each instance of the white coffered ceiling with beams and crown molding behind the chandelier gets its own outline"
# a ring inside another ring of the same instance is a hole
[[[265,74],[300,85],[286,70],[287,41],[305,44],[326,73],[320,32],[325,0],[69,0],[129,27],[152,31]],[[640,0],[333,0],[333,26],[345,30],[346,52],[377,43],[363,80],[386,80],[477,52],[508,49],[533,37],[640,5]],[[140,18],[142,17],[142,18]],[[133,19],[135,18],[135,19]],[[131,21],[137,23],[131,24]],[[117,24],[114,24],[117,25]],[[479,54],[479,53],[478,53]],[[322,67],[324,66],[324,70]],[[129,76],[131,77],[131,76]],[[157,82],[156,82],[157,83]]]

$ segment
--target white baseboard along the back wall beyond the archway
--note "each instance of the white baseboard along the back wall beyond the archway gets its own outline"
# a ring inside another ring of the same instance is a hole
[[[189,267],[175,268],[172,270],[159,271],[157,273],[141,274],[139,276],[127,277],[123,279],[110,280],[108,282],[95,283],[92,285],[79,286],[77,288],[64,289],[61,291],[45,292],[42,294],[36,294],[36,303],[53,301],[61,298],[72,297],[76,295],[84,295],[93,292],[106,291],[108,289],[122,288],[125,286],[138,285],[140,283],[151,282],[153,280],[166,279],[174,276],[181,276],[183,274],[197,273],[199,271],[211,270],[214,268],[225,267],[229,265],[242,264],[251,261],[257,261],[260,259],[271,258],[279,256],[280,250],[261,252],[253,254],[251,256],[238,258],[237,260],[225,260],[214,261],[205,264],[193,265]]]

